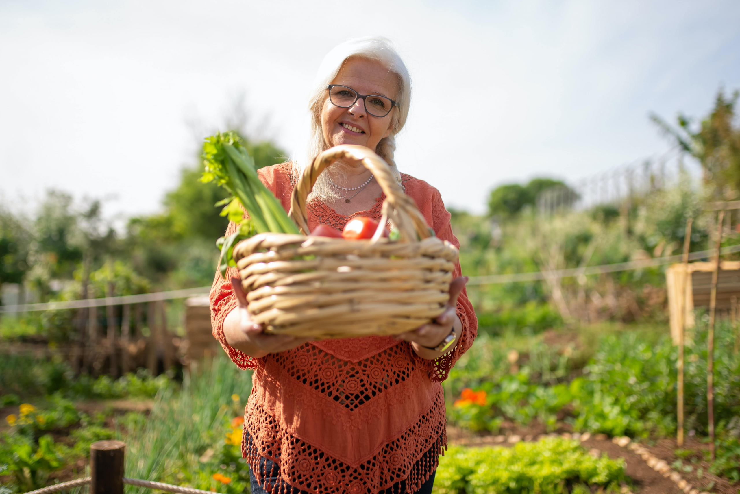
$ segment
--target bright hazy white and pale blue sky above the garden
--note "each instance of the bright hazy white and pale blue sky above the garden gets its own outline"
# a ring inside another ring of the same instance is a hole
[[[497,184],[667,149],[648,113],[740,88],[738,26],[736,0],[2,0],[0,200],[154,212],[241,93],[252,129],[302,155],[323,55],[385,35],[414,81],[399,168],[482,212]]]

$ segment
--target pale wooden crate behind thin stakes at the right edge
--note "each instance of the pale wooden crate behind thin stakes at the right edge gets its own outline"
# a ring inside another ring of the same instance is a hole
[[[673,264],[665,272],[670,312],[670,336],[676,345],[682,321],[693,328],[693,310],[708,307],[714,263]],[[688,268],[688,270],[687,270]],[[690,276],[687,276],[687,273]],[[716,309],[730,311],[733,300],[740,300],[740,261],[720,261],[717,278]]]

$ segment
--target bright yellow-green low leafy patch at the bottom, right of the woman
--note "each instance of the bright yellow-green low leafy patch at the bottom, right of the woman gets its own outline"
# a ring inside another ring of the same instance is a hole
[[[579,441],[560,438],[514,447],[451,447],[440,459],[434,494],[561,494],[577,487],[619,492],[624,460],[594,458]],[[589,490],[585,492],[590,492]]]

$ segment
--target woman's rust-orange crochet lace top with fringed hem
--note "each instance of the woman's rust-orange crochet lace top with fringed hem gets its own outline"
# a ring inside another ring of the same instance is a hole
[[[288,210],[290,164],[260,169],[259,175]],[[440,192],[423,180],[401,177],[437,237],[459,247]],[[309,204],[309,228],[326,223],[343,229],[357,215],[378,220],[383,199],[350,217],[323,203]],[[226,234],[233,231],[234,223]],[[459,263],[453,276],[460,276]],[[235,268],[226,275],[231,277],[238,277]],[[279,465],[285,484],[316,494],[377,494],[404,479],[413,492],[436,470],[447,442],[440,383],[477,334],[465,291],[457,302],[460,339],[437,360],[422,359],[408,342],[392,336],[327,339],[253,359],[226,343],[223,319],[237,302],[218,272],[210,300],[213,335],[239,368],[254,370],[242,453],[267,490],[275,486],[260,472],[260,458]]]

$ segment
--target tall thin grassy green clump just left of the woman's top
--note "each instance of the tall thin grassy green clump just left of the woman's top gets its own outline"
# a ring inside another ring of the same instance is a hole
[[[118,438],[127,444],[126,476],[241,492],[248,478],[246,463],[226,434],[233,432],[229,422],[243,416],[251,378],[218,356],[186,373],[181,390],[161,390],[149,416],[129,414],[118,421]],[[215,473],[232,482],[216,481]],[[127,493],[149,490],[127,487]]]

